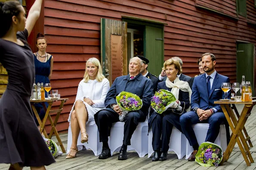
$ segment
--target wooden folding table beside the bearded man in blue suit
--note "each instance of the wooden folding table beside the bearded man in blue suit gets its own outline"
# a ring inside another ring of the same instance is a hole
[[[247,166],[250,166],[251,163],[253,163],[254,161],[250,153],[250,149],[247,144],[247,141],[249,142],[249,145],[251,147],[253,145],[250,141],[250,137],[248,136],[244,125],[251,114],[250,112],[253,109],[253,106],[256,105],[256,101],[250,101],[250,102],[215,101],[214,104],[219,104],[221,106],[223,113],[225,114],[225,117],[228,121],[228,125],[230,126],[232,131],[230,142],[228,143],[228,147],[224,152],[223,159],[220,165],[222,165],[225,161],[228,161],[228,158],[232,150],[234,149],[234,145],[237,143]],[[232,107],[231,107],[231,104],[232,104]],[[244,109],[242,110],[240,116],[234,104],[244,104]],[[232,108],[235,110],[238,119],[234,115]],[[244,130],[245,137],[242,130]]]

